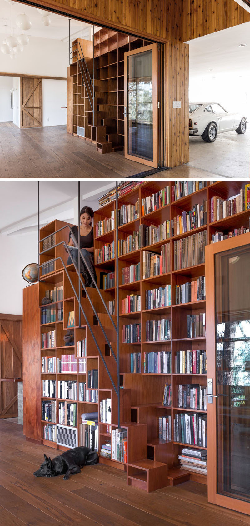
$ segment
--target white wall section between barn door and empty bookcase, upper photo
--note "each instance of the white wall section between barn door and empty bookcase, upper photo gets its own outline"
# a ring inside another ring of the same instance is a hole
[[[43,126],[67,124],[67,81],[43,79]]]

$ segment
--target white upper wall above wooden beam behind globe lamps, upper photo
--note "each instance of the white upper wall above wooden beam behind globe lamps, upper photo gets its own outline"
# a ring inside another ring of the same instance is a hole
[[[0,35],[0,42],[6,35]],[[43,77],[67,77],[68,43],[51,39],[29,37],[29,44],[12,60],[1,53],[1,71]]]

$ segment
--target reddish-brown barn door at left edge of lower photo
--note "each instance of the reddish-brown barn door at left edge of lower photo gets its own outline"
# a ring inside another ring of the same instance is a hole
[[[22,316],[0,314],[0,418],[17,417],[17,378],[23,376]]]

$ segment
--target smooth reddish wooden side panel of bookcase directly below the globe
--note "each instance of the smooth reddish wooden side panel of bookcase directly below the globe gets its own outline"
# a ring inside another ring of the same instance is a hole
[[[41,359],[38,283],[23,291],[24,434],[41,441]]]

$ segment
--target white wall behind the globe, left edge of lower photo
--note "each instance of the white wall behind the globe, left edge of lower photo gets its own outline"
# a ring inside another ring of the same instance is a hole
[[[28,263],[37,262],[37,232],[25,236],[0,234],[0,312],[23,313],[23,288],[28,283],[22,270]]]

